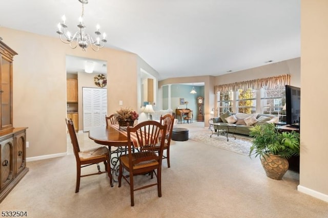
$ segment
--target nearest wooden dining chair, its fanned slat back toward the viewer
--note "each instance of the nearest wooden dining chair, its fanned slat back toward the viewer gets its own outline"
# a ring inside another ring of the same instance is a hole
[[[134,191],[157,185],[158,197],[161,197],[161,163],[167,125],[162,125],[157,121],[145,121],[134,127],[127,127],[128,133],[128,154],[120,156],[118,187],[121,187],[122,177],[130,185],[131,206],[134,206]],[[135,151],[134,144],[138,144],[138,152]],[[159,152],[155,151],[156,144],[160,144]],[[128,175],[124,175],[127,170]],[[156,171],[155,171],[156,170]],[[155,174],[157,181],[149,185],[134,187],[134,176]]]

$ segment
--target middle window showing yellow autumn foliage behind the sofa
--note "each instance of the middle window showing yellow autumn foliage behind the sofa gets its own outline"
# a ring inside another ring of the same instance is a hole
[[[239,89],[236,97],[238,113],[254,114],[256,112],[256,90]]]

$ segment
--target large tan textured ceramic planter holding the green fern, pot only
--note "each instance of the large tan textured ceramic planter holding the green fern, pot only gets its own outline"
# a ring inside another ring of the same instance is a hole
[[[288,170],[289,163],[287,159],[281,158],[279,155],[264,155],[264,157],[260,156],[260,159],[265,173],[271,179],[281,180]]]

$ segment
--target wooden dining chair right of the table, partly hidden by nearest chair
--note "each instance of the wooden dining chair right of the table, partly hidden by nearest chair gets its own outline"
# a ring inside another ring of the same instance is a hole
[[[167,159],[168,162],[168,167],[170,168],[170,144],[171,144],[171,137],[172,137],[172,129],[173,129],[173,124],[174,124],[174,117],[170,114],[167,114],[165,116],[160,116],[160,123],[163,125],[167,125],[167,135],[165,138],[165,144],[163,150],[166,150],[166,156],[162,155],[163,159]],[[156,151],[159,151],[159,146],[155,146]]]

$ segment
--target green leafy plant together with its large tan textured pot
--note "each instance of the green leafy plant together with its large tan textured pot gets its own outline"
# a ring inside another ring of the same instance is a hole
[[[299,155],[299,133],[280,133],[274,123],[267,123],[251,128],[250,137],[253,141],[249,156],[259,156],[267,176],[281,180],[288,170],[288,159]]]

